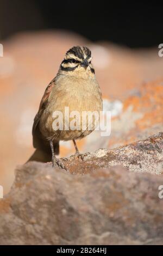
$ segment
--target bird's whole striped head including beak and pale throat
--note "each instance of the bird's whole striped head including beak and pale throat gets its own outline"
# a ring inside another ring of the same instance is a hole
[[[91,51],[85,46],[74,46],[66,52],[65,58],[60,65],[60,70],[68,74],[95,74],[91,63]]]

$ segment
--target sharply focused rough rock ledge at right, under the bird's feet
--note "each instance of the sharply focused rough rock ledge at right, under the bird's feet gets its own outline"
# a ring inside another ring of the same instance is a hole
[[[63,160],[70,173],[90,173],[92,170],[121,164],[134,172],[161,174],[163,172],[163,132],[145,141],[138,141],[116,149],[99,149],[86,154],[85,161],[72,156]]]

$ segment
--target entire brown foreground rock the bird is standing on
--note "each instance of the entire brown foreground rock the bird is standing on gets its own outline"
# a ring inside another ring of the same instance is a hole
[[[0,244],[162,244],[163,176],[152,175],[162,173],[162,149],[159,133],[83,161],[62,159],[70,173],[51,163],[18,167],[0,200]]]

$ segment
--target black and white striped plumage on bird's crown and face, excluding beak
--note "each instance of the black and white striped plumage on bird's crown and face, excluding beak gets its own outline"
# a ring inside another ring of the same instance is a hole
[[[74,46],[66,52],[65,58],[61,63],[61,70],[73,71],[82,64],[83,60],[87,60],[90,65],[91,72],[95,73],[91,65],[91,51],[86,46]]]

